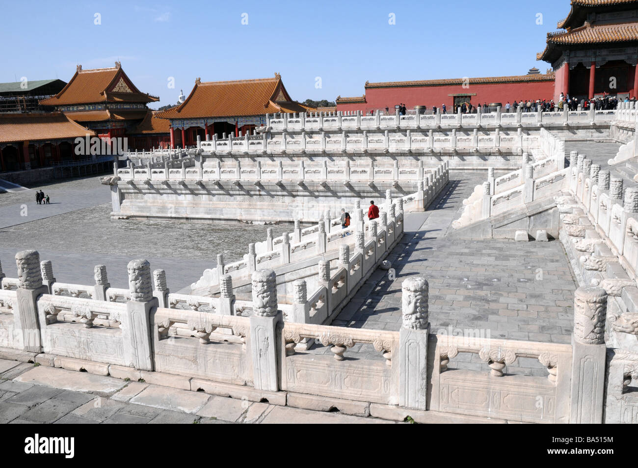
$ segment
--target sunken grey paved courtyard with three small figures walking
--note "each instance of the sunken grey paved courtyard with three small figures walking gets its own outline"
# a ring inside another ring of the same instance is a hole
[[[59,205],[38,205],[35,191],[0,194],[0,261],[15,276],[15,253],[26,248],[52,260],[58,281],[87,284],[93,267],[107,266],[113,287],[128,287],[126,264],[143,257],[167,271],[173,292],[197,281],[216,265],[241,259],[248,244],[263,241],[266,226],[111,220],[110,192],[99,177],[73,179],[43,189]],[[57,201],[56,201],[57,202]],[[27,205],[28,216],[20,216]],[[50,208],[54,207],[54,208]],[[51,211],[54,209],[55,211]],[[290,227],[273,226],[274,236]]]

